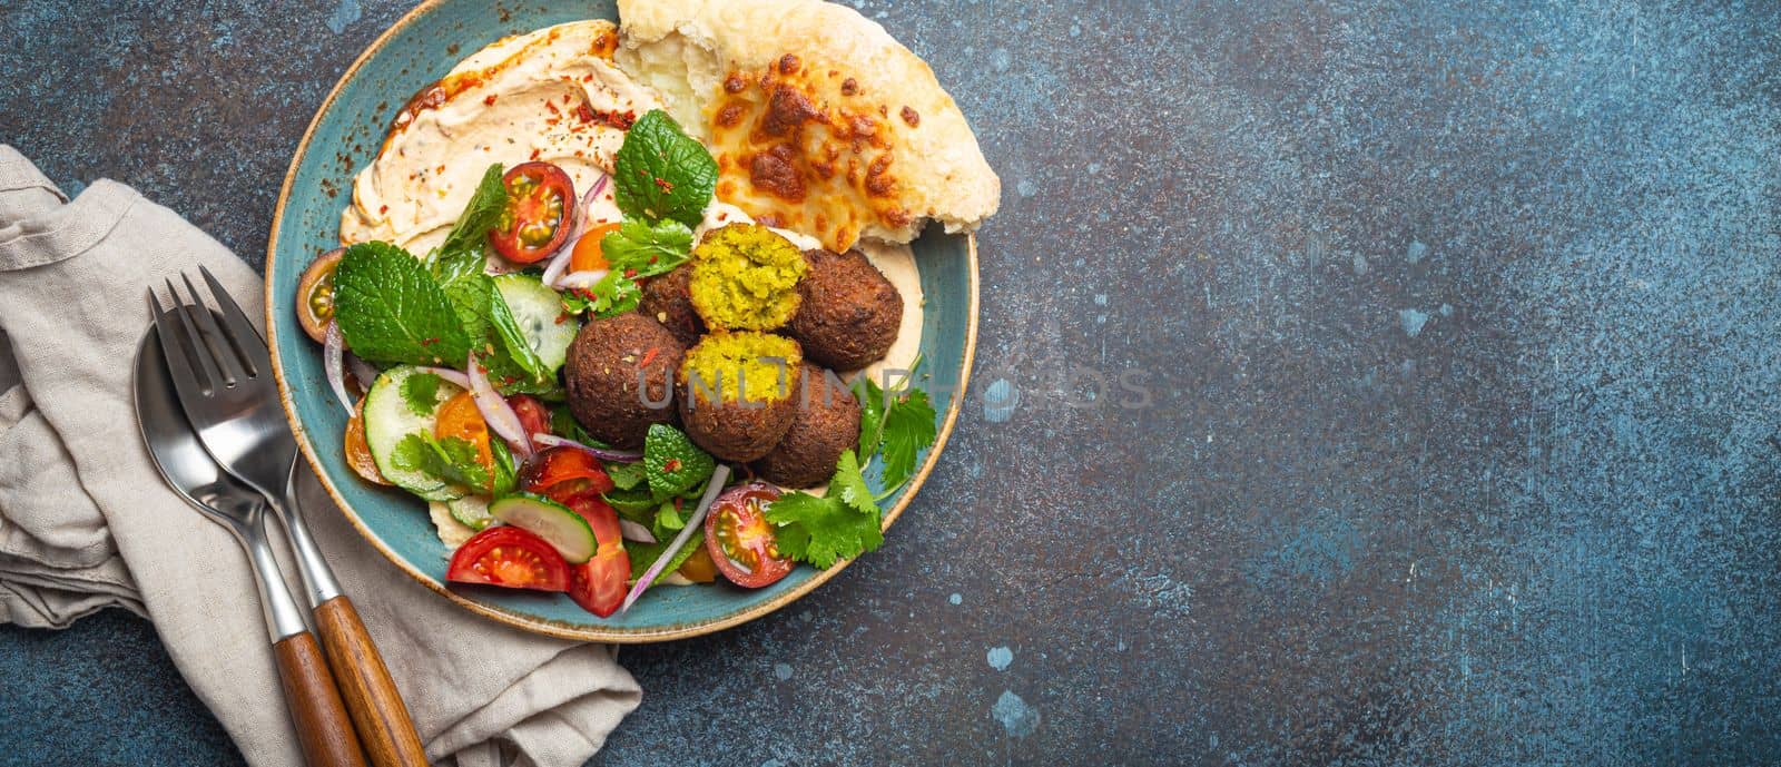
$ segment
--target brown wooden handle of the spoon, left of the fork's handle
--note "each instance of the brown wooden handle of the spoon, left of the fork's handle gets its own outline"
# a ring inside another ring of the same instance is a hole
[[[312,767],[365,767],[353,721],[346,715],[315,635],[301,632],[280,639],[272,642],[272,655],[303,760]]]

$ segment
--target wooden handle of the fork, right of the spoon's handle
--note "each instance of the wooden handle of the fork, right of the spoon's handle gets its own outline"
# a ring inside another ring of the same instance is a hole
[[[415,733],[415,723],[408,719],[408,706],[353,601],[335,596],[317,605],[313,616],[328,648],[328,664],[340,682],[340,694],[346,696],[346,708],[370,753],[370,763],[426,767],[427,753]]]

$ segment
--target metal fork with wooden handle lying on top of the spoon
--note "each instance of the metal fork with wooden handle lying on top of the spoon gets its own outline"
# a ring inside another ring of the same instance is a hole
[[[264,495],[285,525],[328,666],[372,763],[424,767],[426,749],[383,655],[303,521],[296,498],[297,445],[285,422],[265,342],[216,276],[203,267],[198,270],[217,310],[207,306],[191,274],[180,274],[187,297],[167,279],[176,310],[155,315],[180,406],[205,450]],[[150,301],[157,301],[153,288]]]

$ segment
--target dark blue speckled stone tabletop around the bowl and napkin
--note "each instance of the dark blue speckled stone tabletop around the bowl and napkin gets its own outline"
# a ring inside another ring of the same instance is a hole
[[[593,763],[1781,760],[1781,7],[858,5],[1003,174],[976,390],[882,552],[625,650]],[[0,141],[258,263],[401,12],[14,2]],[[0,630],[0,721],[237,758],[121,614]]]

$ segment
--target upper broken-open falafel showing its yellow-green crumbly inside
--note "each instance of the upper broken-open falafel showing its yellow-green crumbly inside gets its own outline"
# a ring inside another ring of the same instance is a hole
[[[760,224],[711,230],[693,247],[687,297],[711,329],[771,331],[798,311],[809,269],[798,246]]]

